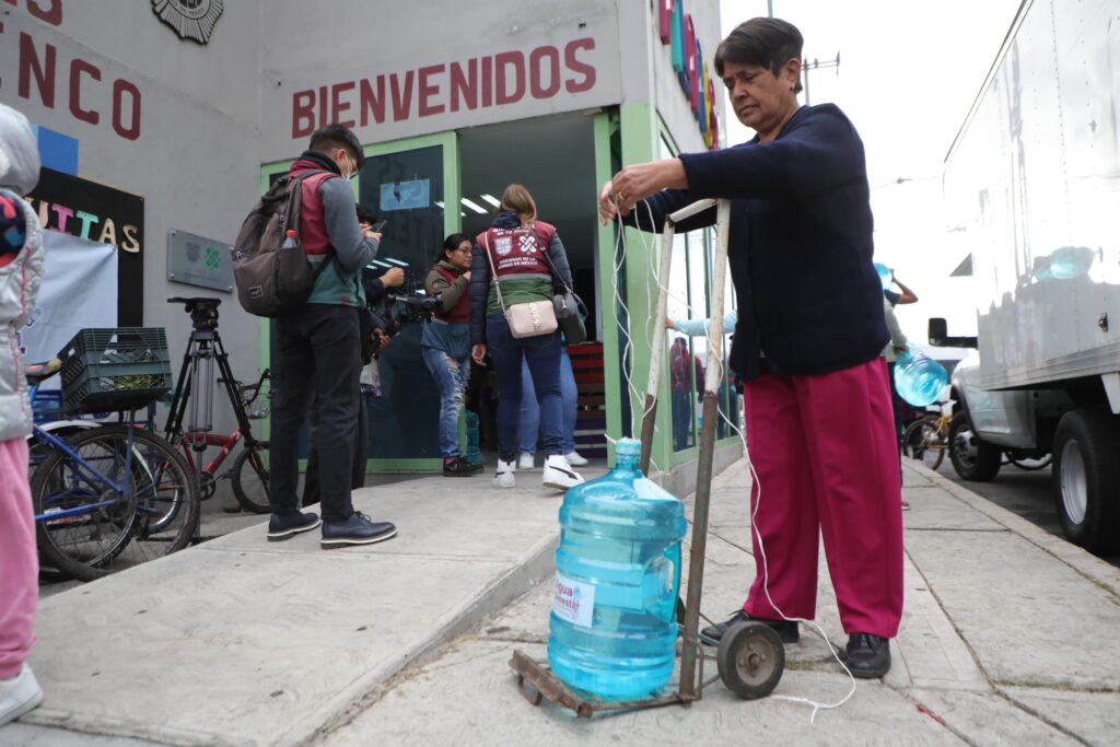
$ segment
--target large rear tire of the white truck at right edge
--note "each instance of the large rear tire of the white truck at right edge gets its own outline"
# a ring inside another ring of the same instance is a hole
[[[1054,505],[1062,530],[1095,554],[1120,548],[1118,446],[1116,419],[1095,410],[1065,413],[1054,433]]]

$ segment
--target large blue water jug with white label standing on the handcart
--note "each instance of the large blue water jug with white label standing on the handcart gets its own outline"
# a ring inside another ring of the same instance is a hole
[[[684,506],[642,476],[641,443],[568,491],[560,508],[549,665],[604,700],[651,695],[673,673]]]

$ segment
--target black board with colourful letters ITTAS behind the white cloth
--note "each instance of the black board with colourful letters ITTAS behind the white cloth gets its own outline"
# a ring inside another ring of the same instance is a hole
[[[48,231],[118,249],[116,324],[143,324],[143,197],[45,168],[27,196]]]

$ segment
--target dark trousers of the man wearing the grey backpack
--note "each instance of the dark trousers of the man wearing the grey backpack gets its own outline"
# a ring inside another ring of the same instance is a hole
[[[277,338],[270,439],[272,513],[299,510],[299,428],[312,403],[318,419],[314,440],[319,447],[323,521],[345,521],[354,513],[351,471],[362,364],[357,309],[309,304],[277,318]]]

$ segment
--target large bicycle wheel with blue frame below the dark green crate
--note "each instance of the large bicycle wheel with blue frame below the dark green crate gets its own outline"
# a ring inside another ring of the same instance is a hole
[[[170,445],[129,426],[87,430],[67,445],[77,458],[54,450],[32,485],[44,564],[93,580],[187,545],[198,495]]]

